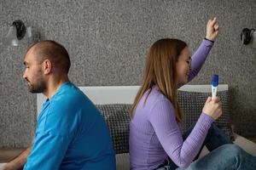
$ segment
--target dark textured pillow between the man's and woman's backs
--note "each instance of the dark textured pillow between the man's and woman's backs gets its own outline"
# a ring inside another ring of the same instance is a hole
[[[104,116],[113,141],[116,154],[129,152],[129,104],[96,105]]]

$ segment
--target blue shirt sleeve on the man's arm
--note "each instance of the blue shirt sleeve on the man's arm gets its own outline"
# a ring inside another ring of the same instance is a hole
[[[25,170],[59,169],[79,125],[79,114],[65,105],[50,105],[38,120],[35,142]]]

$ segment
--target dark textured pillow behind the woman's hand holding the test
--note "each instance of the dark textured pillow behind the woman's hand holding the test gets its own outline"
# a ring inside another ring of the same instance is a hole
[[[212,93],[186,92],[178,90],[177,99],[183,111],[183,132],[186,132],[189,127],[197,121],[208,96],[212,96]],[[222,103],[223,114],[218,117],[214,124],[223,130],[230,139],[234,140],[234,133],[232,132],[230,123],[229,91],[220,91],[217,96]]]

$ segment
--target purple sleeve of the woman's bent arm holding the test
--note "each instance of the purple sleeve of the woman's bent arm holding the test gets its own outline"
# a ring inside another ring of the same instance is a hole
[[[148,119],[166,154],[178,167],[188,167],[194,160],[213,122],[212,117],[201,113],[189,137],[183,141],[182,133],[175,118],[174,108],[167,99],[155,103]]]

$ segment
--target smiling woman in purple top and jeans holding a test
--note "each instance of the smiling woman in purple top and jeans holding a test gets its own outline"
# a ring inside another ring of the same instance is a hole
[[[192,58],[187,44],[177,39],[161,39],[149,48],[143,84],[131,108],[131,169],[256,169],[256,158],[212,125],[222,115],[218,98],[209,97],[195,127],[181,133],[177,88],[201,70],[217,36],[214,18]],[[203,145],[211,152],[197,160]]]

